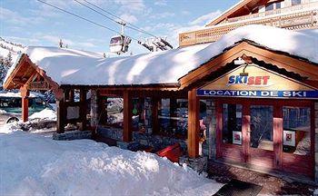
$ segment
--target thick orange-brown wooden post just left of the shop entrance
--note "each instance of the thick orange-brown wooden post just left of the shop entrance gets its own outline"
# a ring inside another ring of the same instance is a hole
[[[188,153],[190,158],[199,156],[200,134],[200,101],[196,96],[196,89],[188,92]]]

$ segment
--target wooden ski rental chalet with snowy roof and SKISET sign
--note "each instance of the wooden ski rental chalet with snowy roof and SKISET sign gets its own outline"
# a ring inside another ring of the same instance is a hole
[[[147,138],[163,142],[165,137],[184,141],[192,159],[206,156],[317,181],[318,54],[313,50],[317,40],[261,25],[244,30],[252,35],[262,31],[264,39],[278,33],[273,44],[225,35],[223,41],[209,45],[114,60],[94,58],[95,65],[82,59],[78,63],[83,67],[70,64],[82,52],[55,49],[61,57],[35,48],[20,57],[4,87],[21,90],[25,121],[28,91],[52,89],[58,133],[65,132],[67,123],[75,123],[79,130],[117,130],[121,133],[117,140],[123,142],[149,144]],[[286,39],[303,46],[285,50],[290,47]],[[223,45],[224,40],[233,43]],[[64,66],[57,65],[61,62]],[[100,76],[104,79],[97,80]],[[107,126],[110,97],[121,97],[124,104],[123,124],[114,129]],[[182,104],[186,114],[180,116]],[[169,108],[165,115],[164,105]],[[136,114],[145,116],[138,119],[144,124],[137,129]],[[163,119],[170,121],[170,128],[164,127]],[[186,132],[176,133],[175,119],[185,119]],[[144,134],[142,139],[134,137],[136,132]]]

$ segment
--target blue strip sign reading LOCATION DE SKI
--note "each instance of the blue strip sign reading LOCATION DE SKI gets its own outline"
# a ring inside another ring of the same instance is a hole
[[[251,90],[197,90],[198,96],[261,97],[261,98],[318,98],[318,91],[251,91]]]

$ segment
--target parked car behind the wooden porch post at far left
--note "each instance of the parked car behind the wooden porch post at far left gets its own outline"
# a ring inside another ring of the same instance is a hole
[[[17,122],[22,115],[22,99],[19,93],[0,93],[0,125]],[[38,113],[45,108],[53,107],[45,103],[43,97],[31,94],[29,97],[29,116]]]

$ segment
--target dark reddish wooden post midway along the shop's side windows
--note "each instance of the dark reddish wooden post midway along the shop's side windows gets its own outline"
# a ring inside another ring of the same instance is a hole
[[[133,138],[132,104],[133,103],[129,92],[124,91],[124,142],[131,142]]]

